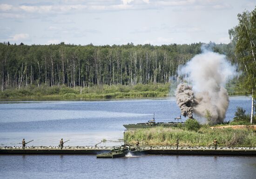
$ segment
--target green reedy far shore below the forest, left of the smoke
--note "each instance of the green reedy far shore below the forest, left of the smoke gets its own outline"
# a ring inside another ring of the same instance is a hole
[[[120,99],[120,98],[144,98],[166,97],[169,93],[169,84],[153,85],[103,85],[92,87],[67,86],[29,86],[27,89],[7,89],[0,92],[1,99]]]

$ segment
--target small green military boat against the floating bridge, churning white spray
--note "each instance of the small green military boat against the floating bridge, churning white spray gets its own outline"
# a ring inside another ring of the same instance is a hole
[[[97,158],[118,158],[125,157],[127,154],[141,155],[143,150],[131,148],[129,145],[114,146],[111,152],[96,155]]]

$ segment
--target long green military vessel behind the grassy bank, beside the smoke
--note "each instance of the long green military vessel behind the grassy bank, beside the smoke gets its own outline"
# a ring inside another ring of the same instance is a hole
[[[177,126],[178,124],[181,124],[182,126],[185,125],[184,122],[179,122],[179,119],[182,119],[181,116],[180,117],[177,117],[175,118],[175,120],[177,119],[177,122],[155,122],[155,114],[154,114],[154,117],[153,119],[151,120],[148,120],[148,122],[145,122],[145,123],[137,123],[137,124],[124,124],[123,126],[126,128],[126,129],[129,129],[129,130],[136,130],[136,129],[142,129],[142,128],[151,128],[151,127],[157,127],[157,126],[162,126],[162,127],[175,127]]]

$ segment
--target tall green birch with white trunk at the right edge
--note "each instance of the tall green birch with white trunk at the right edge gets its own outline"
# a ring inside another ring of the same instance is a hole
[[[256,8],[237,15],[239,24],[229,30],[229,37],[235,44],[236,60],[239,69],[243,72],[240,76],[243,87],[252,94],[251,118],[254,116],[254,100],[256,89]]]

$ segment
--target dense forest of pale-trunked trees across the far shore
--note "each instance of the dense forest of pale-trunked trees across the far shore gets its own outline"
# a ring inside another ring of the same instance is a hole
[[[212,45],[212,44],[211,44]],[[167,83],[202,43],[190,45],[11,45],[0,43],[0,86],[94,86]],[[213,50],[232,55],[230,45]]]

